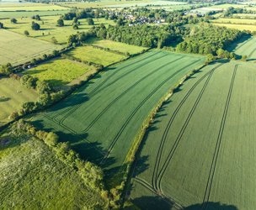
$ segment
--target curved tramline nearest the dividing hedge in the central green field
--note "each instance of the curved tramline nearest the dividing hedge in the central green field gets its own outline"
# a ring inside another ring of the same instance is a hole
[[[122,127],[120,128],[120,131],[118,132],[118,134],[115,135],[115,138],[113,139],[112,143],[109,145],[109,150],[107,155],[104,157],[104,160],[106,158],[108,158],[109,154],[111,153],[111,151],[113,150],[117,140],[120,138],[120,135],[123,133],[124,129],[126,128],[126,126],[128,125],[128,123],[131,121],[131,118],[133,118],[133,116],[136,114],[136,112],[142,107],[142,105],[147,102],[147,100],[152,97],[152,95],[157,92],[157,90],[162,87],[168,80],[170,80],[171,78],[173,78],[173,76],[177,75],[179,73],[179,71],[181,71],[182,69],[185,69],[191,65],[194,65],[196,62],[198,62],[199,60],[195,60],[193,63],[190,63],[187,66],[184,66],[183,68],[179,69],[178,71],[175,71],[171,76],[168,76],[168,78],[166,80],[164,80],[162,83],[160,83],[152,92],[150,92],[147,97],[145,97],[143,99],[143,101],[133,110],[133,112],[130,114],[130,116],[125,120],[125,123],[122,125]],[[103,160],[103,161],[104,161]],[[102,162],[103,162],[102,161]]]

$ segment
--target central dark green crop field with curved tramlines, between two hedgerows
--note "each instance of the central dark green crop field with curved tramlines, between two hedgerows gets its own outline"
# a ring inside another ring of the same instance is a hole
[[[118,170],[147,114],[184,74],[204,62],[200,55],[152,50],[109,67],[31,121],[70,141],[84,159]]]

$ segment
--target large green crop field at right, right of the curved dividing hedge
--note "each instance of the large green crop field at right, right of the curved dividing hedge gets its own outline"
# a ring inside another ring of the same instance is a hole
[[[255,207],[255,67],[205,66],[165,103],[136,162],[131,199],[138,207]]]

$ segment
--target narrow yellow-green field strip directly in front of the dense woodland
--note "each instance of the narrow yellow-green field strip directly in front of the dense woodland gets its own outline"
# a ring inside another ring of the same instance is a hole
[[[109,48],[110,50],[117,50],[122,53],[129,53],[130,55],[141,53],[142,50],[147,50],[146,47],[127,45],[125,43],[111,41],[108,39],[90,39],[89,44]]]

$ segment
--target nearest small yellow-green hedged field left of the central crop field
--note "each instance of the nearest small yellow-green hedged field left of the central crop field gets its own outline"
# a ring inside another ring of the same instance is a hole
[[[52,86],[61,87],[83,74],[95,71],[96,69],[93,66],[60,58],[47,61],[23,73],[38,77],[40,81],[48,81]]]

